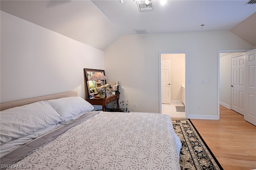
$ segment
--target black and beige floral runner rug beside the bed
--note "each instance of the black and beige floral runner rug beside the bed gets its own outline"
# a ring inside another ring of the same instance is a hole
[[[182,142],[181,170],[223,170],[190,119],[172,119],[172,124]]]

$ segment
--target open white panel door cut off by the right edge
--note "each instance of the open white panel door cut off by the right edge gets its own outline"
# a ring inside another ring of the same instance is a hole
[[[256,126],[256,49],[246,51],[244,119]]]

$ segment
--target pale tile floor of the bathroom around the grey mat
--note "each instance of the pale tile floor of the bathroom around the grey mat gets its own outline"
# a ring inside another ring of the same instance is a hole
[[[162,104],[162,114],[173,118],[186,118],[186,112],[177,112],[176,106],[184,106],[183,103]]]

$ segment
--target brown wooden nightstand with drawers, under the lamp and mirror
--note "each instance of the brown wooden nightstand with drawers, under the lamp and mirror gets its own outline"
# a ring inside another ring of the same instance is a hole
[[[116,104],[119,108],[119,95],[120,94],[113,95],[104,99],[100,99],[100,97],[94,97],[92,99],[86,98],[85,100],[91,103],[92,105],[102,105],[102,111],[106,111],[106,105],[113,101],[116,101]]]

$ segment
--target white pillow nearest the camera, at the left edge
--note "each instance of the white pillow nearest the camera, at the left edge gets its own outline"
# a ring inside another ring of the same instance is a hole
[[[6,109],[1,111],[0,117],[1,144],[64,121],[46,101]]]

